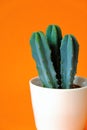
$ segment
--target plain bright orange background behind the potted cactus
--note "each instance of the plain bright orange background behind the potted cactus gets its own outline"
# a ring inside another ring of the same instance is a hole
[[[28,80],[37,71],[29,38],[49,24],[77,37],[77,74],[87,77],[86,0],[0,0],[0,130],[36,130]]]

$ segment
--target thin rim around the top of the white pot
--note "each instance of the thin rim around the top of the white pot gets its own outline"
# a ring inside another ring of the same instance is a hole
[[[78,76],[78,75],[76,75],[75,76],[75,78],[80,78],[80,79],[83,79],[83,80],[86,80],[86,82],[87,82],[87,78],[86,77],[82,77],[82,76]],[[35,87],[36,88],[36,86],[39,88],[39,89],[43,89],[43,90],[49,90],[49,91],[82,91],[82,90],[84,90],[84,89],[87,89],[87,85],[86,86],[81,86],[80,88],[68,88],[68,89],[60,89],[60,88],[58,88],[58,89],[56,89],[56,88],[47,88],[47,87],[42,87],[41,85],[37,85],[37,84],[35,84],[35,83],[32,83],[32,81],[34,81],[35,79],[39,79],[39,76],[35,76],[35,77],[33,77],[33,78],[31,78],[30,80],[29,80],[29,84],[31,84],[32,85],[32,87]],[[40,80],[40,79],[39,79]],[[83,81],[84,82],[84,81]],[[86,83],[87,84],[87,83]],[[30,86],[31,86],[30,85]],[[77,84],[78,85],[78,84]]]

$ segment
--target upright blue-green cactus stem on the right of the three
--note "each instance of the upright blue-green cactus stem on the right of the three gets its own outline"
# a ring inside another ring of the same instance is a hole
[[[75,37],[66,35],[61,43],[62,88],[71,88],[77,69],[79,45]]]

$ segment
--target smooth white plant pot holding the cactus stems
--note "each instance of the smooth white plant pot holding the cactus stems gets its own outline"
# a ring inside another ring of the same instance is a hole
[[[37,130],[87,129],[87,78],[75,77],[76,89],[44,88],[38,77],[29,83]]]

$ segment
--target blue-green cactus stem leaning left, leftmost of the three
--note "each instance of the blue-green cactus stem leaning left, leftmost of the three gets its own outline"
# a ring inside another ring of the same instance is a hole
[[[33,33],[30,39],[32,55],[44,87],[58,88],[56,73],[51,61],[51,51],[43,32]]]

